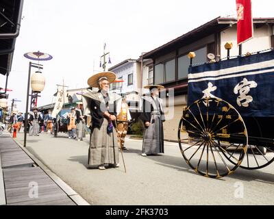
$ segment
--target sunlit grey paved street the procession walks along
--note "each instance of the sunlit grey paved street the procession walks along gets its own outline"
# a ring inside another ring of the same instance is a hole
[[[16,140],[23,144],[23,133]],[[120,168],[90,170],[88,138],[69,140],[65,134],[27,136],[27,149],[92,205],[269,205],[274,201],[274,164],[262,170],[238,168],[221,179],[192,171],[177,143],[165,142],[160,156],[140,156],[141,140],[126,139],[124,172]],[[238,186],[243,185],[243,198]],[[235,195],[236,194],[236,195]]]

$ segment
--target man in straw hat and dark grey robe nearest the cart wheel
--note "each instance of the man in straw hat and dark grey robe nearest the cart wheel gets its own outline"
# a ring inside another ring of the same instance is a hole
[[[142,114],[140,120],[144,122],[145,130],[142,141],[142,156],[164,153],[164,111],[162,99],[159,98],[159,85],[149,85],[149,96],[142,96]]]

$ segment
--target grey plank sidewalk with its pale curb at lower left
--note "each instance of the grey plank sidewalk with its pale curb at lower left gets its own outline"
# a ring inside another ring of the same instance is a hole
[[[39,163],[8,131],[0,133],[0,205],[88,205]]]

